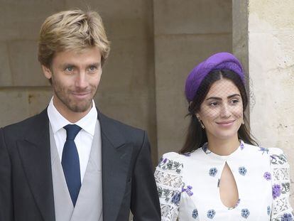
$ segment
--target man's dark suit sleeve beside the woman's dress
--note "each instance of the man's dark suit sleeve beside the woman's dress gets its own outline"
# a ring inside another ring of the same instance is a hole
[[[134,221],[160,221],[160,205],[153,176],[151,150],[145,131],[132,176],[131,212]]]

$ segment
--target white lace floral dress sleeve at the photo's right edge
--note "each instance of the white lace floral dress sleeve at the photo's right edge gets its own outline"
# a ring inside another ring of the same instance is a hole
[[[270,149],[270,163],[273,194],[271,221],[294,220],[293,209],[289,202],[289,163],[281,149]]]

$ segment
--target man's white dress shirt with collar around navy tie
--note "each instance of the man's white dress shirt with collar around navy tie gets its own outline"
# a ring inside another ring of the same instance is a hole
[[[72,123],[65,119],[65,117],[63,117],[60,112],[58,112],[58,109],[56,109],[53,104],[53,98],[50,100],[47,112],[61,162],[63,146],[65,145],[66,141],[66,130],[63,128],[63,126]],[[96,122],[97,109],[93,100],[92,109],[90,109],[89,113],[87,113],[85,117],[82,117],[82,119],[80,119],[79,121],[75,122],[77,126],[80,126],[82,128],[75,137],[75,145],[77,146],[77,152],[79,153],[80,158],[81,183],[85,176],[87,163],[89,161],[89,154],[91,151]]]

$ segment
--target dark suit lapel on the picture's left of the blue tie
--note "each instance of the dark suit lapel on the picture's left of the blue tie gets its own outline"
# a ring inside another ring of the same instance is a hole
[[[47,109],[38,114],[24,140],[18,141],[23,169],[43,220],[54,221],[54,198],[50,162],[50,139]]]

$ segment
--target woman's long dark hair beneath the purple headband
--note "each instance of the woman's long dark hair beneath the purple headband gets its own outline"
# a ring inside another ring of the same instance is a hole
[[[189,113],[186,116],[191,118],[190,125],[187,129],[185,144],[183,148],[179,151],[179,153],[189,153],[195,151],[207,142],[205,129],[202,129],[200,122],[196,117],[196,113],[200,110],[200,105],[205,100],[205,97],[209,92],[212,84],[217,80],[221,80],[222,78],[231,80],[234,85],[238,87],[241,94],[245,124],[241,124],[238,130],[238,138],[243,140],[246,144],[258,145],[246,126],[248,125],[248,121],[246,120],[244,112],[248,104],[248,97],[246,95],[244,83],[242,82],[239,75],[236,75],[236,73],[232,70],[213,70],[212,72],[209,72],[204,80],[202,80],[194,99],[192,100],[192,102],[190,102],[188,109]]]

